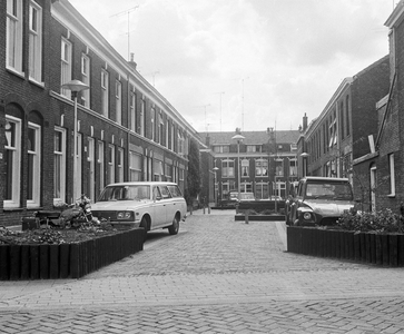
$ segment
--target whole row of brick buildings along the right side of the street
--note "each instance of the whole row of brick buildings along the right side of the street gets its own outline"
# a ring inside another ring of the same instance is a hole
[[[404,202],[404,1],[393,10],[390,52],[345,78],[297,143],[298,174],[348,177],[364,210]]]

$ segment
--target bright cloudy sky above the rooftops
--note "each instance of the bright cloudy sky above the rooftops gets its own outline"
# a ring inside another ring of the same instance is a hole
[[[312,121],[344,78],[388,53],[384,22],[398,2],[69,1],[126,59],[129,45],[197,131],[297,129],[305,112]]]

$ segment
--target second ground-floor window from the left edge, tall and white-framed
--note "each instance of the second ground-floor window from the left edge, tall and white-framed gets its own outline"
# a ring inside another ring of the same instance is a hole
[[[41,177],[41,127],[28,124],[28,175],[27,175],[27,206],[40,205],[40,177]]]

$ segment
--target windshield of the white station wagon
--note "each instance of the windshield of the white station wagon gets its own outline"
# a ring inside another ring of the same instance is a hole
[[[149,186],[110,186],[104,189],[99,202],[150,199]]]

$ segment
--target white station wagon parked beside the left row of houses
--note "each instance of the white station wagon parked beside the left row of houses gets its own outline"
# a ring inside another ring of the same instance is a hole
[[[168,228],[174,235],[179,230],[179,222],[186,218],[187,205],[175,183],[119,183],[102,190],[91,212],[112,225],[131,225],[146,230]]]

